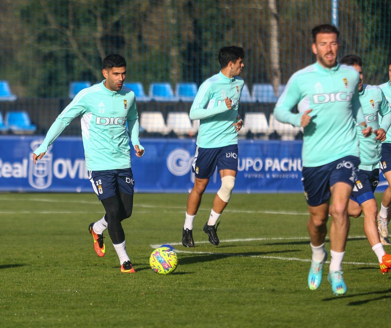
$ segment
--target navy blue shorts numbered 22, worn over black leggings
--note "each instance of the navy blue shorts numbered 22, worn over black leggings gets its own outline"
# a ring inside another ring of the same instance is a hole
[[[129,195],[134,193],[135,180],[131,168],[88,171],[88,176],[99,200],[115,196],[118,191]]]

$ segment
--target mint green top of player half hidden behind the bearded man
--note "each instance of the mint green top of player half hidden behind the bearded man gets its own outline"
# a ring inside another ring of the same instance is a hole
[[[360,103],[367,125],[373,130],[382,128],[387,132],[391,125],[391,107],[382,90],[378,86],[363,86],[360,92]],[[379,116],[382,117],[381,123]],[[356,127],[360,141],[361,164],[359,169],[372,171],[379,168],[382,143],[380,140],[375,141],[376,134],[364,137],[361,127],[358,125]]]

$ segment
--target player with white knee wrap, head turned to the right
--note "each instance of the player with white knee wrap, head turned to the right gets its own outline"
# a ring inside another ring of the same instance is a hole
[[[238,131],[243,124],[238,116],[238,107],[244,85],[238,75],[244,67],[243,59],[242,48],[221,48],[221,71],[201,84],[190,109],[190,119],[199,119],[200,125],[193,162],[194,187],[187,199],[182,232],[185,247],[194,247],[193,220],[216,166],[221,176],[221,188],[213,200],[212,211],[203,230],[212,245],[220,242],[216,232],[219,223],[215,224],[230,200],[238,169]]]

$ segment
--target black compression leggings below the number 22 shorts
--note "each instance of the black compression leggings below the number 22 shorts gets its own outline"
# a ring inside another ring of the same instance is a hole
[[[102,200],[102,204],[106,210],[104,219],[107,221],[111,241],[113,244],[121,244],[125,241],[121,221],[132,215],[133,195],[120,191],[117,195]]]

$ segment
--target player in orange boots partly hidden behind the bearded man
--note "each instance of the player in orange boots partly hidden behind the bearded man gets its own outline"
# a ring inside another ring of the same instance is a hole
[[[356,55],[344,56],[340,64],[350,65],[359,73],[359,94],[362,111],[366,123],[377,136],[364,137],[361,128],[357,127],[360,141],[360,165],[357,171],[357,181],[353,187],[348,203],[348,214],[359,217],[364,212],[364,232],[372,250],[377,255],[380,271],[384,274],[390,271],[391,255],[386,254],[380,242],[376,226],[377,203],[373,192],[379,183],[379,160],[386,132],[391,125],[391,107],[378,86],[362,85],[362,59]],[[381,123],[380,123],[381,118]],[[331,212],[331,209],[330,209]]]

